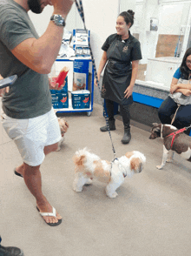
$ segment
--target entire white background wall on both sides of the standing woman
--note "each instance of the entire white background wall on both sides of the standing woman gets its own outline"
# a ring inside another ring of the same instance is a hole
[[[170,2],[169,2],[170,1]],[[124,10],[135,11],[135,24],[130,29],[132,33],[139,33],[142,46],[141,64],[148,62],[148,57],[155,57],[158,34],[179,35],[182,28],[188,30],[188,15],[190,1],[175,0],[82,0],[85,12],[86,27],[90,30],[90,43],[95,57],[96,68],[102,57],[102,44],[112,33],[115,33],[115,21]],[[53,7],[47,6],[41,15],[30,12],[30,17],[41,36],[49,24]],[[150,17],[159,19],[159,30],[150,31]],[[66,20],[66,30],[83,28],[82,19],[73,4]],[[188,44],[188,36],[185,37]],[[182,51],[185,51],[187,44]]]

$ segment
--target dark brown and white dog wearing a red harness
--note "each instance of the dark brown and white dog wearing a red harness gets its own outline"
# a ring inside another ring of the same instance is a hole
[[[191,161],[191,137],[186,135],[184,132],[178,133],[175,135],[175,139],[172,144],[173,135],[168,136],[169,134],[178,131],[178,129],[173,125],[162,125],[162,124],[153,124],[151,130],[150,139],[155,139],[158,137],[163,138],[163,155],[161,165],[156,165],[156,168],[161,169],[166,162],[172,162],[175,152],[177,152],[182,158]],[[168,153],[169,158],[168,158]]]

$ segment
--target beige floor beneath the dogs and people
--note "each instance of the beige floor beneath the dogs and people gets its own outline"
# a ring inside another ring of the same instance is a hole
[[[65,115],[69,131],[60,152],[45,158],[41,172],[43,192],[63,216],[61,226],[50,227],[36,211],[35,199],[23,179],[13,173],[21,164],[14,142],[0,125],[0,234],[3,246],[19,246],[25,256],[190,256],[191,252],[191,171],[190,163],[179,156],[175,163],[161,164],[161,139],[149,140],[149,132],[132,126],[132,140],[122,145],[123,125],[116,120],[112,131],[116,156],[137,150],[147,164],[142,173],[125,179],[109,199],[105,185],[97,181],[73,192],[77,149],[87,146],[103,159],[112,160],[109,134],[102,106],[95,104],[91,117]]]

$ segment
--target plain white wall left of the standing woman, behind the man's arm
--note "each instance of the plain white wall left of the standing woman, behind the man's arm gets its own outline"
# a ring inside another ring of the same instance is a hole
[[[119,14],[119,0],[82,0],[82,4],[86,28],[90,30],[90,43],[98,69],[102,57],[102,44],[110,34],[115,33],[115,22]],[[52,12],[53,7],[51,6],[47,6],[40,15],[29,12],[39,36],[43,35],[46,30]],[[66,29],[72,31],[76,28],[83,28],[83,24],[74,3],[66,19]]]

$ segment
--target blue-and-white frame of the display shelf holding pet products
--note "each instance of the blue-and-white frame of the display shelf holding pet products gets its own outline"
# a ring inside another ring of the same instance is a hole
[[[73,74],[72,74],[72,78],[71,75],[68,79],[69,84],[69,107],[68,108],[56,108],[56,113],[63,113],[63,112],[87,112],[87,116],[90,117],[91,112],[93,111],[93,102],[94,102],[94,66],[92,64],[92,60],[88,59],[88,58],[74,58],[74,59],[56,59],[56,63],[60,63],[60,62],[79,62],[85,65],[89,66],[89,76],[87,79],[87,83],[86,83],[86,87],[84,88],[84,90],[89,90],[90,92],[90,101],[89,101],[89,108],[79,108],[79,109],[75,109],[72,107],[72,98],[71,98],[71,91],[73,88]],[[56,72],[56,74],[58,74],[58,71]],[[75,91],[74,91],[75,92]]]

